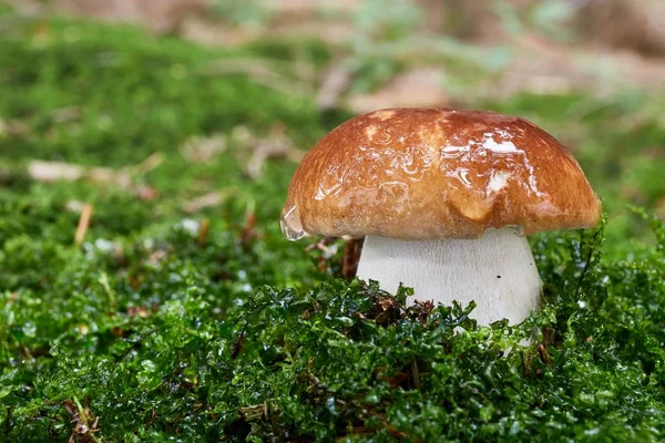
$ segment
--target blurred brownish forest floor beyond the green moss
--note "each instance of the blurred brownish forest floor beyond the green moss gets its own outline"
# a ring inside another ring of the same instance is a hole
[[[299,80],[319,89],[321,106],[344,104],[354,111],[441,105],[470,93],[488,99],[518,92],[607,94],[621,86],[656,92],[665,86],[665,3],[659,0],[12,3],[27,14],[135,23],[208,45],[319,41],[329,47],[332,60],[315,66],[304,53]],[[323,69],[306,73],[306,68]],[[260,69],[257,63],[252,70]]]

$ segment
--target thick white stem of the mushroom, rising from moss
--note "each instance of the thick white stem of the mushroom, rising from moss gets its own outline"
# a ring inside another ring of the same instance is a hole
[[[366,237],[358,278],[377,280],[395,293],[402,282],[415,290],[409,300],[467,306],[480,324],[507,318],[524,320],[538,308],[541,279],[525,237],[513,229],[491,229],[478,239],[405,241]]]

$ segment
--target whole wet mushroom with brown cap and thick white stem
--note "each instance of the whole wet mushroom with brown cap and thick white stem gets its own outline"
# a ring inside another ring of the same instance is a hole
[[[525,236],[593,227],[600,215],[577,162],[534,124],[393,109],[347,121],[307,153],[282,229],[291,240],[365,237],[358,278],[434,302],[474,300],[473,316],[489,324],[520,322],[539,305]]]

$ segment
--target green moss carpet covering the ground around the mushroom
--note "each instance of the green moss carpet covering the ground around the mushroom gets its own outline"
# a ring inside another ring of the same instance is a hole
[[[320,44],[207,50],[59,20],[0,32],[0,441],[664,437],[665,229],[626,207],[665,195],[662,99],[470,104],[554,133],[608,213],[596,231],[532,239],[538,317],[477,328],[461,307],[405,311],[403,293],[336,279],[339,253],[279,233],[295,164],[246,174],[239,126],[260,138],[279,124],[306,148],[348,115],[211,66],[324,62]],[[183,148],[215,135],[225,147],[203,162]],[[132,183],[40,183],[32,159],[125,168]],[[184,210],[212,192],[221,204]],[[76,247],[80,203],[94,214]]]

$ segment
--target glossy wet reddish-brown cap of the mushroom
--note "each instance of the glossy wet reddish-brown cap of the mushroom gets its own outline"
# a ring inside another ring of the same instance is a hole
[[[395,109],[356,116],[303,158],[282,214],[301,234],[407,240],[589,228],[601,203],[554,137],[491,112]]]

